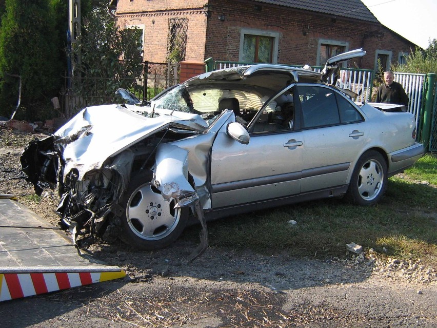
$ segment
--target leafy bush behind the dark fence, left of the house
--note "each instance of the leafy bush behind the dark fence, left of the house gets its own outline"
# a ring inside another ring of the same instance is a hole
[[[81,57],[81,63],[73,70],[74,76],[81,77],[81,80],[73,77],[73,82],[76,81],[74,91],[81,95],[92,92],[107,96],[120,87],[133,90],[143,71],[142,30],[118,28],[108,13],[107,2],[97,2],[84,17],[82,34],[77,37],[73,53]],[[84,79],[88,80],[86,88],[77,83]]]

